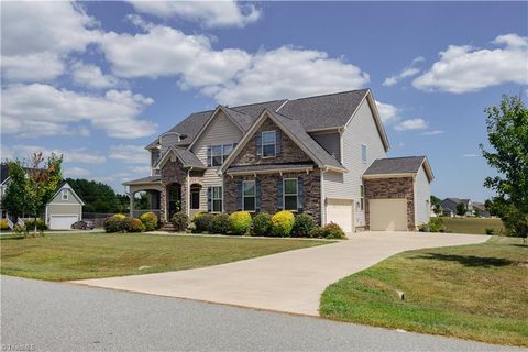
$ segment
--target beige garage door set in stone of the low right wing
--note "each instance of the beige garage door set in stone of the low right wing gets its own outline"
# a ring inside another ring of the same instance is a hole
[[[407,199],[371,199],[370,227],[374,231],[407,231]]]

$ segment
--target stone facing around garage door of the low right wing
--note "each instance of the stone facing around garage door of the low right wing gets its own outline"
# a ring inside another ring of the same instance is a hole
[[[391,177],[363,179],[365,189],[365,228],[370,228],[371,199],[407,199],[407,229],[415,231],[415,189],[413,177]]]

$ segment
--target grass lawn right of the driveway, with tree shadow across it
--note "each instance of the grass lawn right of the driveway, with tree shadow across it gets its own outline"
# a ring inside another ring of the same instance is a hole
[[[323,317],[528,346],[528,246],[520,239],[392,256],[329,286]],[[400,300],[395,290],[405,292]]]

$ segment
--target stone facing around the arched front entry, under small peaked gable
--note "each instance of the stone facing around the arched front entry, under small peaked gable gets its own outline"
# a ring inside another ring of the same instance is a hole
[[[160,199],[160,218],[167,221],[167,187],[170,184],[179,184],[182,186],[182,211],[187,211],[187,172],[184,169],[179,160],[168,161],[161,169],[162,174],[162,193]]]

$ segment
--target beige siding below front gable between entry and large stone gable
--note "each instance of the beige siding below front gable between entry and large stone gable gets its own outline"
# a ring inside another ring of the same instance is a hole
[[[207,147],[216,144],[238,143],[242,139],[242,132],[234,122],[222,111],[219,111],[209,123],[199,140],[193,145],[191,152],[207,165]],[[222,186],[222,176],[218,175],[220,167],[209,167],[202,178],[200,193],[200,210],[207,211],[207,188],[210,186]]]

